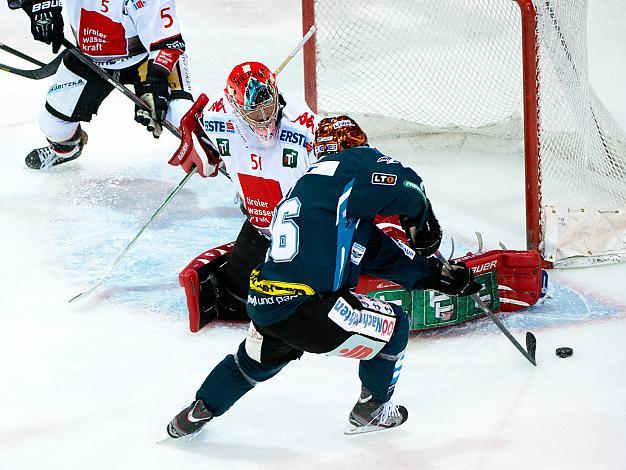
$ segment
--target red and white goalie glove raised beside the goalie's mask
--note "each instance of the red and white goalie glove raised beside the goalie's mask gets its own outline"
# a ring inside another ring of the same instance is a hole
[[[222,164],[215,144],[200,125],[202,110],[208,102],[209,98],[201,94],[180,120],[180,146],[168,162],[172,166],[181,166],[185,173],[197,168],[204,178],[215,176]]]

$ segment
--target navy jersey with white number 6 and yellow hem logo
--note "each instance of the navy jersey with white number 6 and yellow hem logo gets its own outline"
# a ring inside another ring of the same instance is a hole
[[[266,261],[250,279],[248,314],[260,325],[275,323],[307,296],[354,287],[361,272],[384,272],[408,290],[419,288],[431,263],[373,219],[420,220],[428,205],[421,178],[376,149],[320,159],[276,207]]]

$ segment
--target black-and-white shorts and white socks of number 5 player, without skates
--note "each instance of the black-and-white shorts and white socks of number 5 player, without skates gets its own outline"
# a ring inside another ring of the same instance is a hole
[[[144,60],[126,69],[103,70],[123,84],[134,85],[136,93],[141,94],[147,64],[147,60]],[[193,99],[185,54],[181,55],[168,81],[171,101],[166,119],[178,125]],[[104,81],[74,54],[66,54],[46,95],[46,105],[39,116],[39,127],[53,142],[69,139],[76,132],[79,122],[91,121],[112,90],[113,85]]]

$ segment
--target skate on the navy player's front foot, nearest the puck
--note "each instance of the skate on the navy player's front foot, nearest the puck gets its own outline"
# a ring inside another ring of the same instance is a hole
[[[372,394],[365,387],[361,389],[359,400],[350,411],[350,426],[344,434],[361,434],[400,426],[409,418],[409,412],[404,406],[398,406],[391,401],[385,403],[374,400]]]

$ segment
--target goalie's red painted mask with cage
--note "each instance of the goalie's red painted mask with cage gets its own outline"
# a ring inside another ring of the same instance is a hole
[[[276,136],[280,99],[276,76],[260,62],[244,62],[233,68],[224,89],[235,113],[252,132],[268,143]]]

